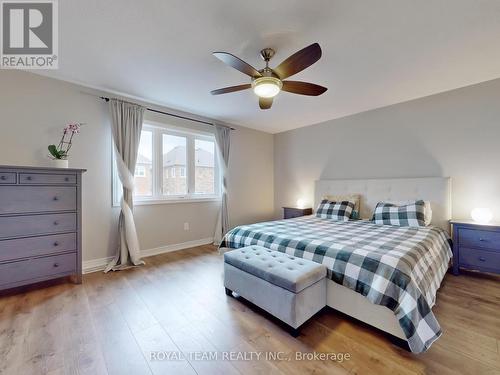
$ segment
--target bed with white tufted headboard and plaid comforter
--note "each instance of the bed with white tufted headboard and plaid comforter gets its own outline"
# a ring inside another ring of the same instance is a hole
[[[415,178],[320,180],[315,201],[328,194],[359,193],[361,218],[335,222],[307,216],[234,228],[222,250],[258,244],[323,263],[327,304],[426,351],[441,335],[432,307],[451,258],[450,180]],[[378,201],[424,199],[430,227],[375,225],[367,221]]]

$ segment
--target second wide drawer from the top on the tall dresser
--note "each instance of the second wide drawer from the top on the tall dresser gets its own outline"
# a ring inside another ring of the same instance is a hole
[[[76,214],[0,217],[0,239],[76,231]]]

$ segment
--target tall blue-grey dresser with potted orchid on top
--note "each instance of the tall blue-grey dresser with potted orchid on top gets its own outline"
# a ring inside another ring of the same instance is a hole
[[[82,279],[82,169],[0,166],[0,290]]]

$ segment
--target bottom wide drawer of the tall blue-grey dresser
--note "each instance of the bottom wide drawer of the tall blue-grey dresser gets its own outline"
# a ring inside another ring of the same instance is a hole
[[[76,253],[0,264],[0,285],[76,273]]]

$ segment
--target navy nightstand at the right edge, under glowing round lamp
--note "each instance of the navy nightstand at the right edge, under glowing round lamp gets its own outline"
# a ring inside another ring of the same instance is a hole
[[[500,224],[452,220],[453,274],[459,268],[500,273]]]

